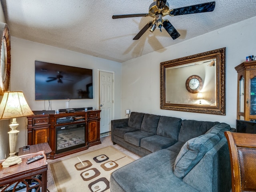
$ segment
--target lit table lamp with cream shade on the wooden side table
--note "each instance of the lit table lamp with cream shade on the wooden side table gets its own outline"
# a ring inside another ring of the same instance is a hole
[[[33,115],[33,112],[28,106],[22,91],[4,92],[4,96],[0,104],[0,120],[12,118],[12,124],[9,125],[12,130],[8,132],[10,157],[2,163],[3,167],[9,167],[11,165],[21,163],[21,158],[15,155],[18,132],[20,132],[16,130],[19,125],[16,122],[16,118],[26,117],[29,115]]]

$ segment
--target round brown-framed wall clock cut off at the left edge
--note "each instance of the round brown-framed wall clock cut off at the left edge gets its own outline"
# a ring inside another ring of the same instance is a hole
[[[0,22],[1,51],[0,51],[0,95],[8,91],[11,74],[11,41],[7,24]]]

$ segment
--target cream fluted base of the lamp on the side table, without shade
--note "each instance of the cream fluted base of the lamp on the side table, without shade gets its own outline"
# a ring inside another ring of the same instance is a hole
[[[18,140],[18,130],[16,128],[18,127],[18,123],[16,122],[16,118],[13,118],[12,124],[10,124],[10,130],[8,132],[9,134],[9,145],[10,145],[10,157],[8,157],[3,163],[3,167],[9,167],[11,165],[19,164],[21,163],[21,158],[15,155],[15,147]]]

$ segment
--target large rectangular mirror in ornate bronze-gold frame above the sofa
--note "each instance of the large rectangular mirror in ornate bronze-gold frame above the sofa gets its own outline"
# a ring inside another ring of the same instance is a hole
[[[226,48],[160,63],[160,108],[226,115]]]

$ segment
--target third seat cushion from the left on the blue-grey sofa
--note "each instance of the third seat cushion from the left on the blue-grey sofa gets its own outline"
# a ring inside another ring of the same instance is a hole
[[[160,135],[153,135],[150,137],[143,138],[140,141],[140,146],[151,152],[155,152],[160,149],[167,148],[176,142],[177,140],[172,138],[167,138]]]

